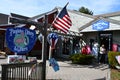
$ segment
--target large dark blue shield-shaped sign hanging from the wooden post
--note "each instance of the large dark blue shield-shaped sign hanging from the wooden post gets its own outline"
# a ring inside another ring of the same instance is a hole
[[[26,54],[34,46],[36,33],[27,28],[7,28],[6,43],[11,51],[17,54]]]

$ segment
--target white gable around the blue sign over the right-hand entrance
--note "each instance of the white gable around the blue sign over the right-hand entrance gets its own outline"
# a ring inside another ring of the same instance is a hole
[[[92,29],[92,24],[98,20],[105,20],[110,22],[110,27],[107,30],[120,30],[120,21],[117,19],[114,19],[114,17],[120,17],[120,12],[113,12],[113,13],[108,13],[108,14],[101,14],[101,15],[95,15],[96,17],[93,21],[83,25],[82,27],[79,28],[80,32],[92,32],[92,31],[97,31]],[[113,17],[113,18],[111,18]],[[114,27],[112,27],[114,25]]]

